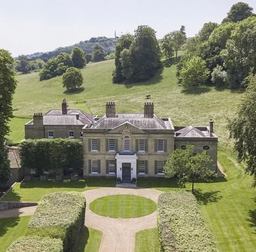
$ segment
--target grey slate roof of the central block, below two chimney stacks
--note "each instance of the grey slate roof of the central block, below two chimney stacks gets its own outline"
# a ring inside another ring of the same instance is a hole
[[[103,116],[100,120],[92,125],[93,129],[113,129],[119,125],[129,122],[139,129],[171,129],[166,126],[165,121],[154,115],[153,118],[144,118],[144,114],[122,114],[117,113],[116,117]]]

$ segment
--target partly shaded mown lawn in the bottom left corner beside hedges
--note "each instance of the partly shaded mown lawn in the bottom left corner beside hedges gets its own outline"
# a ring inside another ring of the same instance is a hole
[[[12,242],[26,232],[31,216],[0,219],[0,252],[5,252]]]

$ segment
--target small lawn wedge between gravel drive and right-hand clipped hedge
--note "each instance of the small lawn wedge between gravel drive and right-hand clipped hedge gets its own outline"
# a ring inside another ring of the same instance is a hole
[[[159,252],[157,228],[136,233],[135,252]]]

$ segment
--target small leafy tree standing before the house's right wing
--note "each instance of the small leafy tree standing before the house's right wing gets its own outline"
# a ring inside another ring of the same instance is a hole
[[[185,187],[185,184],[192,183],[192,193],[194,193],[194,183],[198,180],[211,181],[215,177],[215,172],[210,169],[212,159],[206,151],[193,155],[194,146],[188,144],[185,150],[174,150],[164,167],[166,177],[177,176],[178,184]]]

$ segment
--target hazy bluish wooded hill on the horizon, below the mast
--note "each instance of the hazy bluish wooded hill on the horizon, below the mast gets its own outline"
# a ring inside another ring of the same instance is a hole
[[[58,47],[53,51],[50,52],[36,52],[33,54],[28,54],[26,57],[29,60],[35,60],[35,59],[42,59],[43,61],[48,61],[52,57],[57,57],[60,53],[65,52],[70,54],[72,52],[72,49],[74,47],[81,48],[85,53],[92,53],[93,46],[95,43],[99,43],[100,46],[103,47],[106,54],[110,54],[114,51],[116,51],[116,45],[117,45],[118,37],[116,38],[107,38],[107,37],[97,37],[97,38],[91,38],[89,40],[80,41],[79,43],[71,46],[65,46],[65,47]],[[18,59],[18,58],[15,58]]]

